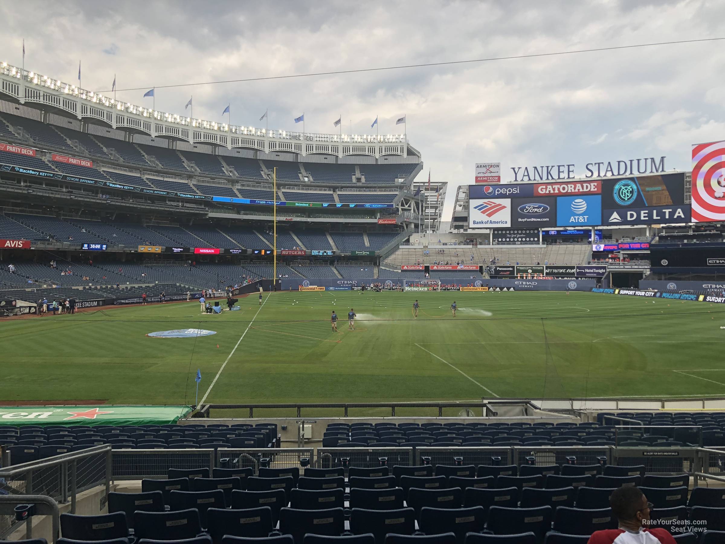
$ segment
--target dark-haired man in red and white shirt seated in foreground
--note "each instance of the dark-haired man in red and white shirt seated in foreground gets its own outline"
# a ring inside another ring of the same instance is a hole
[[[653,507],[637,487],[620,487],[609,498],[612,513],[619,520],[619,529],[596,531],[588,544],[677,544],[667,529],[650,525]]]

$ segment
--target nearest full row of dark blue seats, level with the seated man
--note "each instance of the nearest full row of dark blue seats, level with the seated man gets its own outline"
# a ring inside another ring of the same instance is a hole
[[[653,511],[655,516],[658,516]],[[671,514],[670,512],[665,513]],[[538,508],[506,508],[492,506],[486,516],[482,506],[471,508],[421,508],[416,520],[414,508],[396,510],[368,510],[352,508],[349,522],[344,508],[309,510],[281,508],[279,522],[272,519],[271,508],[207,508],[204,523],[199,508],[178,511],[140,511],[133,517],[133,537],[146,540],[185,540],[207,533],[213,544],[223,544],[228,536],[264,538],[270,534],[290,535],[294,544],[304,544],[305,535],[339,536],[370,535],[376,544],[386,543],[390,534],[442,535],[452,533],[456,544],[465,544],[471,533],[489,535],[521,535],[533,533],[534,542],[542,542],[548,532],[560,535],[589,537],[602,529],[616,529],[618,521],[611,508],[582,510],[560,506]],[[65,538],[81,541],[107,541],[128,538],[128,517],[124,512],[100,516],[61,515],[61,530]],[[666,519],[656,517],[660,525],[667,527]],[[725,508],[697,506],[685,519],[710,530],[725,529]],[[674,523],[672,524],[674,526]]]

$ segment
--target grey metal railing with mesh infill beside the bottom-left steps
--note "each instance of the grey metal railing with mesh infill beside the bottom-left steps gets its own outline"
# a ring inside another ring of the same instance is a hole
[[[70,514],[74,514],[78,493],[104,485],[108,498],[111,474],[111,447],[94,446],[0,469],[0,496],[44,495],[59,503],[70,500]],[[13,526],[14,517],[0,516],[0,537]]]

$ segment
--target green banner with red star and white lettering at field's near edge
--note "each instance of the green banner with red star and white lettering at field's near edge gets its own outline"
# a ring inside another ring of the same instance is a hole
[[[0,425],[167,425],[190,412],[174,405],[0,406]]]

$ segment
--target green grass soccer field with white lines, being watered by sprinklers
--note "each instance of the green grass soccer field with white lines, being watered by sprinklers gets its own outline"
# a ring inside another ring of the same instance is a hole
[[[725,396],[721,305],[589,292],[328,291],[239,305],[208,316],[182,302],[0,321],[0,401],[194,404],[197,368],[207,403]],[[185,328],[217,334],[146,336]]]

